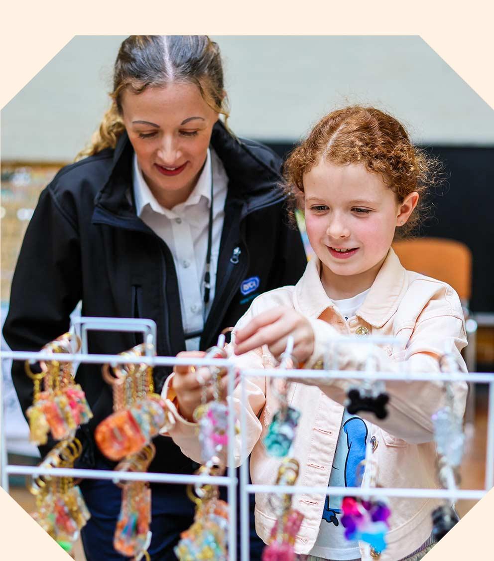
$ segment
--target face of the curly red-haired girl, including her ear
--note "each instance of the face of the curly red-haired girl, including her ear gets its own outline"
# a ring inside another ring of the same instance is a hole
[[[307,234],[328,295],[352,297],[370,288],[418,194],[399,204],[380,174],[363,164],[322,160],[304,175],[303,185]]]

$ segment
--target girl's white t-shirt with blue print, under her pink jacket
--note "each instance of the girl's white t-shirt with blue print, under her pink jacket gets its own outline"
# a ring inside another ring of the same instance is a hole
[[[370,289],[345,300],[333,300],[335,306],[346,320],[355,315],[362,306]],[[357,467],[366,456],[366,444],[369,427],[366,422],[357,415],[350,415],[345,409],[341,419],[338,443],[333,459],[333,467],[329,476],[331,487],[354,487],[360,484],[357,477]],[[322,512],[322,521],[319,527],[316,543],[311,555],[323,559],[359,559],[360,550],[358,541],[345,539],[345,528],[341,524],[341,500],[340,496],[327,496]]]

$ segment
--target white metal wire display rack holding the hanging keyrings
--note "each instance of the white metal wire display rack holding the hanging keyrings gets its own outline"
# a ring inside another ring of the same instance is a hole
[[[113,330],[127,332],[141,332],[144,334],[146,342],[154,343],[156,327],[150,320],[132,320],[132,319],[114,319],[114,318],[78,318],[75,321],[76,332],[80,335],[82,344],[81,352],[72,354],[57,353],[57,360],[61,362],[74,363],[92,363],[92,364],[149,364],[155,366],[175,366],[175,365],[195,365],[195,366],[219,366],[228,370],[228,393],[232,395],[235,388],[236,367],[232,361],[219,358],[177,358],[177,357],[161,357],[147,355],[144,357],[122,357],[119,355],[90,355],[87,354],[87,331],[95,330]],[[348,342],[348,339],[346,339]],[[356,344],[359,343],[389,343],[390,339],[375,339],[368,337],[365,341],[355,339]],[[337,342],[336,342],[337,343]],[[83,352],[84,351],[84,352]],[[13,360],[52,360],[53,354],[48,352],[13,352],[3,353],[4,358],[12,358]],[[246,399],[244,380],[249,376],[258,376],[258,370],[242,370],[240,373],[241,400]],[[294,380],[297,378],[311,379],[357,379],[357,380],[404,380],[408,383],[414,381],[431,380],[430,373],[415,373],[404,371],[402,373],[370,373],[364,371],[340,371],[340,370],[263,370],[262,374],[267,378],[289,378]],[[488,417],[487,417],[487,445],[486,445],[486,477],[484,489],[416,489],[416,488],[368,488],[366,486],[358,488],[345,488],[345,494],[353,496],[395,496],[408,498],[438,498],[449,499],[451,501],[459,499],[481,499],[488,490],[494,486],[494,374],[492,373],[435,373],[434,380],[442,381],[469,381],[472,383],[488,384]],[[1,383],[1,376],[0,376]],[[1,391],[0,391],[1,395]],[[74,479],[116,479],[113,471],[107,470],[82,470],[68,468],[39,468],[31,466],[16,466],[7,463],[7,450],[4,443],[4,418],[3,404],[0,400],[0,436],[2,446],[2,466],[1,466],[1,485],[8,492],[8,475],[50,475],[59,477],[73,477]],[[139,480],[150,481],[156,483],[169,484],[202,484],[210,483],[227,487],[228,504],[229,504],[229,530],[228,530],[228,550],[230,561],[237,559],[237,494],[236,488],[238,480],[234,467],[234,439],[235,439],[235,418],[236,413],[233,407],[229,408],[228,423],[228,468],[226,476],[207,476],[207,475],[183,475],[174,473],[135,473],[135,472],[118,472],[119,480]],[[241,408],[239,415],[241,434],[246,431],[246,411]],[[242,458],[246,457],[245,441],[242,439]],[[241,561],[249,560],[249,501],[248,496],[252,493],[278,493],[278,494],[297,494],[297,493],[316,493],[320,495],[341,494],[339,487],[309,487],[309,486],[280,486],[280,485],[253,485],[248,484],[247,462],[243,462],[240,470],[240,490],[241,490],[241,511],[240,511],[240,535],[241,535]]]

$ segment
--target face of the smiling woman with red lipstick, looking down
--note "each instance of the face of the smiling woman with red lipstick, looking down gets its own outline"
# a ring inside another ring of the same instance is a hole
[[[166,208],[183,203],[206,160],[218,113],[194,84],[122,94],[123,122],[147,185]]]

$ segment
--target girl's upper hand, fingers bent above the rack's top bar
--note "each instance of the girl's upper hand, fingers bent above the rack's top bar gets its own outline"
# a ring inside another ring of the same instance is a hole
[[[243,355],[267,345],[271,354],[279,358],[287,347],[288,335],[293,337],[293,357],[305,362],[314,352],[312,325],[302,314],[285,306],[262,312],[238,330],[234,351],[236,355]]]

